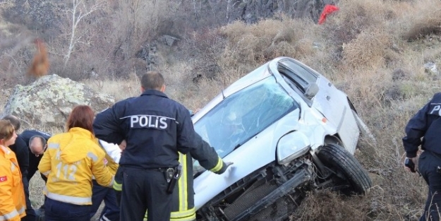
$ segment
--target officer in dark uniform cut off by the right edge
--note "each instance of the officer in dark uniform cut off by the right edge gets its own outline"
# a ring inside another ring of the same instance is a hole
[[[428,198],[420,220],[440,220],[441,213],[441,93],[433,95],[406,125],[403,138],[406,160],[414,165],[429,186]],[[423,139],[421,139],[423,138]],[[418,146],[423,153],[417,160]],[[406,170],[411,171],[409,167]]]

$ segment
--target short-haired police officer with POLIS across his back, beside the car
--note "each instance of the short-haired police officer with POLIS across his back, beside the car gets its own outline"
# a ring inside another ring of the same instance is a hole
[[[149,71],[141,78],[139,97],[117,102],[95,117],[97,138],[127,143],[119,167],[123,174],[121,220],[141,221],[146,210],[149,221],[170,220],[173,191],[167,189],[180,168],[178,151],[187,154],[200,149],[190,113],[164,90],[162,75]],[[224,171],[226,164],[221,162]]]

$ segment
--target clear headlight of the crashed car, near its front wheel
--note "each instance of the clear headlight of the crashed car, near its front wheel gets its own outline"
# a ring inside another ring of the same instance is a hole
[[[301,132],[293,131],[279,139],[277,143],[277,160],[283,165],[300,157],[310,149],[308,137]]]

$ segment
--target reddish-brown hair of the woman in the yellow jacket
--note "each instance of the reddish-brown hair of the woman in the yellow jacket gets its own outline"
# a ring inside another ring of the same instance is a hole
[[[66,121],[66,130],[69,131],[73,127],[86,129],[93,134],[93,119],[95,113],[92,108],[87,105],[78,105],[72,109],[71,114]]]

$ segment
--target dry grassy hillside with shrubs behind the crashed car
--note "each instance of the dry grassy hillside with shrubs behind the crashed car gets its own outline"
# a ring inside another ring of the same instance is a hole
[[[325,23],[325,4],[339,6]],[[356,157],[368,196],[310,193],[292,220],[418,220],[427,186],[404,172],[404,126],[441,89],[440,0],[1,0],[0,112],[26,72],[35,37],[49,73],[117,100],[139,94],[140,74],[164,73],[167,95],[189,109],[277,56],[290,56],[346,92],[377,138]],[[39,128],[39,125],[34,127]],[[59,132],[47,129],[48,132]],[[41,179],[31,180],[41,205]]]

